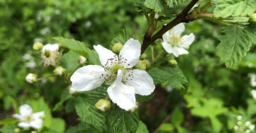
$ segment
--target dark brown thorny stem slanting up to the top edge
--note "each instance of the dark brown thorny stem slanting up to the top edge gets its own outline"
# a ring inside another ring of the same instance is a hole
[[[177,24],[184,22],[185,16],[188,14],[190,9],[198,2],[198,0],[191,0],[191,2],[185,7],[185,9],[176,16],[175,19],[173,19],[170,23],[168,23],[166,26],[163,26],[161,30],[159,30],[156,34],[154,34],[152,37],[150,34],[145,34],[143,37],[143,44],[141,46],[141,54],[146,50],[146,48],[156,39],[160,38],[164,33],[166,33],[168,30],[176,26]]]

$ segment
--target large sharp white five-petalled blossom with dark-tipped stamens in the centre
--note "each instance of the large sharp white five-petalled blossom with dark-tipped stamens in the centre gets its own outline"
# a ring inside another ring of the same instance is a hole
[[[93,47],[103,67],[87,65],[77,69],[70,79],[72,88],[89,91],[107,81],[111,84],[107,88],[110,99],[127,111],[135,107],[135,94],[149,95],[154,91],[152,77],[146,71],[132,69],[141,54],[141,43],[138,40],[129,39],[119,56],[101,45]]]

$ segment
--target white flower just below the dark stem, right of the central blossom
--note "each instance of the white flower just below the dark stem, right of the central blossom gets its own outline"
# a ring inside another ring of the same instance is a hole
[[[182,54],[188,54],[184,47],[189,47],[195,39],[193,33],[181,37],[181,33],[185,30],[184,24],[180,23],[171,30],[163,34],[162,45],[167,53],[178,57]]]

